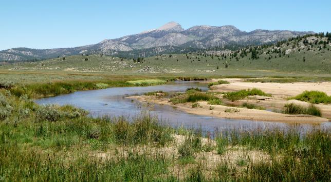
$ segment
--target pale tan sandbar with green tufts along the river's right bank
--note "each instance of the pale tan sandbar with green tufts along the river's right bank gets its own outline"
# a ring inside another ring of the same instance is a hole
[[[207,102],[197,102],[198,107],[192,108],[192,103],[172,105],[168,98],[157,96],[131,96],[129,98],[136,99],[139,102],[155,103],[160,105],[171,105],[177,109],[198,115],[215,116],[230,119],[246,119],[266,122],[284,122],[284,123],[310,123],[318,124],[322,122],[329,122],[331,118],[331,104],[315,105],[321,110],[322,117],[311,115],[291,115],[282,114],[278,112],[271,112],[271,110],[281,110],[286,103],[295,103],[302,106],[309,106],[310,103],[301,102],[299,100],[287,100],[289,96],[294,96],[302,93],[304,90],[318,90],[327,94],[331,94],[331,83],[247,83],[243,82],[242,78],[228,78],[225,79],[230,84],[212,86],[209,92],[226,92],[238,91],[243,89],[258,88],[266,93],[271,93],[271,97],[252,96],[235,102],[227,101],[231,106],[241,106],[243,103],[250,103],[265,107],[268,110],[257,110],[230,107],[223,105],[208,105]],[[213,82],[215,81],[212,80]]]

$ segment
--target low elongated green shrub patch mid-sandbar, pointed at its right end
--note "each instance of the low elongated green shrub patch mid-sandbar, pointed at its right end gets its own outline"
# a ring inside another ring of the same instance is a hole
[[[247,96],[250,96],[250,95],[261,95],[261,96],[271,96],[270,94],[266,94],[264,93],[262,90],[260,89],[248,89],[248,90],[240,90],[240,91],[237,91],[237,92],[226,92],[224,93],[224,98],[227,98],[229,100],[231,100],[232,102],[234,100],[240,100],[240,99],[243,99]]]

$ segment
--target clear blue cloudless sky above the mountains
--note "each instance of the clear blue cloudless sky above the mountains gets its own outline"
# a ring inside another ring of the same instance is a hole
[[[331,31],[331,1],[0,0],[0,50],[95,44],[174,21],[254,29]]]

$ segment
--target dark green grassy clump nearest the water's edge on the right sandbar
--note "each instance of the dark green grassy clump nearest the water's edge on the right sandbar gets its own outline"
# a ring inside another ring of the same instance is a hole
[[[314,116],[321,116],[321,111],[314,105],[310,105],[309,107],[300,106],[297,104],[286,104],[284,106],[283,113],[285,114],[309,114]]]

